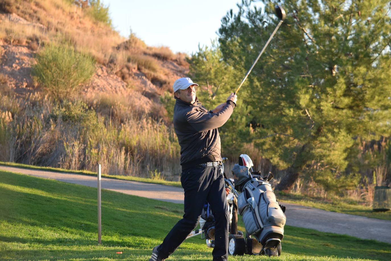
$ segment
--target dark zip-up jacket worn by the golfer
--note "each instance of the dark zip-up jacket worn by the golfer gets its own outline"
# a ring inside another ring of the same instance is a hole
[[[220,112],[212,113],[201,104],[176,99],[174,129],[181,146],[182,169],[208,161],[221,161],[218,127],[230,118],[236,104],[227,101]]]

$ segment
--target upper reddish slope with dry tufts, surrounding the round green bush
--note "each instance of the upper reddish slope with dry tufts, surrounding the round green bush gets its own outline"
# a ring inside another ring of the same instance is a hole
[[[95,58],[96,71],[81,95],[120,94],[151,110],[151,103],[188,72],[184,54],[125,39],[88,15],[88,7],[61,0],[5,1],[0,5],[0,77],[20,96],[41,91],[32,80],[34,57],[45,45],[67,41]]]

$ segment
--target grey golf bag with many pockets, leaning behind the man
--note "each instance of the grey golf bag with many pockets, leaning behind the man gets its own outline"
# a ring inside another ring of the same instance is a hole
[[[235,189],[241,192],[237,199],[238,212],[242,216],[246,234],[254,236],[256,241],[262,244],[262,250],[275,249],[284,236],[286,218],[285,207],[282,208],[278,204],[268,182],[273,175],[267,177],[260,176],[260,173],[251,175],[249,172],[251,166],[240,165],[233,166],[232,174]]]

